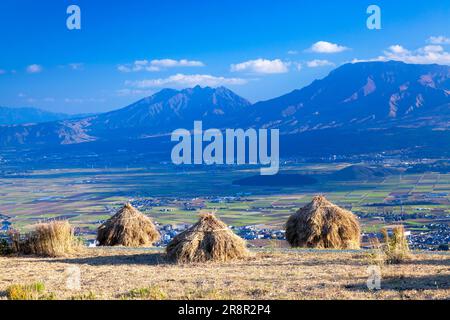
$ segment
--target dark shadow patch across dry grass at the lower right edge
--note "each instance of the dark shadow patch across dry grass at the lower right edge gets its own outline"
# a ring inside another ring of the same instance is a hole
[[[364,279],[365,280],[365,279]],[[369,291],[365,281],[346,286],[348,290]],[[389,277],[381,279],[381,290],[448,290],[450,277],[448,274],[428,275],[423,277]]]

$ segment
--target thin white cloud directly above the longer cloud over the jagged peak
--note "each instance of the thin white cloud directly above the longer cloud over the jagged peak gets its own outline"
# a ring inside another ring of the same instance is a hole
[[[175,68],[175,67],[203,67],[205,64],[196,60],[173,60],[173,59],[161,59],[161,60],[136,60],[132,64],[119,65],[117,69],[120,72],[138,72],[138,71],[160,71],[161,69]]]

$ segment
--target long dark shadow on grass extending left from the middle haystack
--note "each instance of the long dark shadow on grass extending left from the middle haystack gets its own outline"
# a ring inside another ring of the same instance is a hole
[[[115,265],[167,265],[173,264],[163,253],[145,253],[134,255],[109,255],[109,256],[90,256],[90,257],[74,257],[45,260],[51,263],[68,263],[68,264],[87,264],[90,266],[115,266]]]

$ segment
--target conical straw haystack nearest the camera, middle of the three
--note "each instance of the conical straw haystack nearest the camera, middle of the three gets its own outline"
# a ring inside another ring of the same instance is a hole
[[[249,255],[245,241],[211,213],[178,234],[166,250],[168,257],[179,263],[225,262]]]

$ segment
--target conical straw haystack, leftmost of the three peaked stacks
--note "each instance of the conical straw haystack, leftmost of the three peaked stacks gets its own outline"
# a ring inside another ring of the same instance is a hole
[[[129,203],[97,231],[101,246],[152,246],[159,239],[160,234],[152,220]]]

